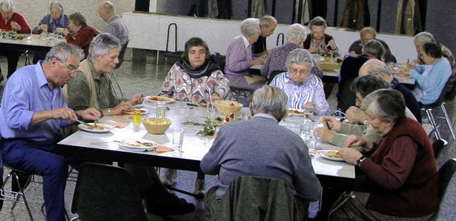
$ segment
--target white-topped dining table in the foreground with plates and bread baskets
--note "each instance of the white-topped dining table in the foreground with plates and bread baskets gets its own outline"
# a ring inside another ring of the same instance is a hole
[[[149,113],[143,117],[155,116],[155,106],[145,102],[144,106],[149,109]],[[194,119],[198,122],[204,122],[204,117],[216,117],[217,112],[207,112],[206,109],[199,107],[187,106],[184,102],[175,102],[167,104],[170,108],[166,117],[172,120],[172,124],[165,134],[149,134],[143,125],[140,125],[139,131],[133,131],[133,123],[123,129],[112,129],[105,134],[95,134],[86,131],[77,131],[60,141],[57,149],[60,153],[78,156],[86,161],[118,161],[123,163],[137,163],[149,166],[159,166],[165,168],[176,168],[185,171],[201,171],[199,162],[212,145],[214,139],[207,136],[197,136],[197,131],[202,126],[182,124],[188,119]],[[243,108],[241,114],[249,115],[249,110]],[[291,129],[296,134],[300,133],[300,122],[302,116],[287,117],[280,124]],[[133,122],[133,120],[118,120],[116,117],[103,117],[100,122],[115,120],[117,122]],[[316,126],[316,125],[315,125]],[[133,152],[120,149],[118,144],[112,141],[120,139],[147,139],[155,141],[165,146],[171,146],[172,129],[183,127],[185,136],[183,142],[183,153],[172,151],[167,153],[150,152]],[[102,142],[106,142],[100,144]],[[338,149],[331,144],[317,142],[318,149]],[[322,183],[331,182],[348,182],[351,183],[355,178],[354,166],[337,161],[328,161],[321,158],[318,154],[312,158],[312,166],[318,178]]]

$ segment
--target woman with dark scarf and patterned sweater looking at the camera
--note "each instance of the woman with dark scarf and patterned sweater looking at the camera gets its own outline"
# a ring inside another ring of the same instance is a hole
[[[215,55],[201,38],[190,38],[180,61],[166,75],[159,96],[179,101],[207,104],[212,99],[224,99],[229,93],[229,81],[220,70]]]

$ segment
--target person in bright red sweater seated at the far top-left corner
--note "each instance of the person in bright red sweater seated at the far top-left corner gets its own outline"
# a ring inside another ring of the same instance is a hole
[[[3,31],[16,31],[17,33],[30,33],[30,27],[21,14],[14,12],[13,1],[1,1],[0,3],[0,29]],[[0,46],[0,55],[6,56],[8,60],[8,76],[11,76],[17,68],[19,55],[23,50],[18,50],[9,45]],[[0,69],[1,73],[1,69]],[[4,79],[0,74],[0,82]]]

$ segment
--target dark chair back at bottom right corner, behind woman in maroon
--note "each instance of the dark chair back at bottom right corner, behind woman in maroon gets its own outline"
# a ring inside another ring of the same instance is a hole
[[[455,175],[456,172],[456,158],[452,158],[445,162],[443,166],[439,169],[439,197],[440,203],[437,207],[437,211],[435,211],[434,216],[432,216],[431,220],[438,220],[440,215],[440,209],[442,204],[445,202],[446,193],[448,185],[450,185],[450,181],[452,177]]]

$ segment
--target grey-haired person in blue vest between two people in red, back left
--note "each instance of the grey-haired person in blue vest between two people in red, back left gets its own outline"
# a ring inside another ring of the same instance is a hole
[[[63,14],[63,4],[60,1],[53,1],[49,6],[51,14],[44,16],[38,26],[33,28],[33,34],[41,34],[43,31],[48,33],[63,33],[63,29],[68,30],[70,21],[68,16]]]

